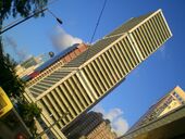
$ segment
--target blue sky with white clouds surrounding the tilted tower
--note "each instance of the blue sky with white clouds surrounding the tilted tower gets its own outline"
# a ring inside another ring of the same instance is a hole
[[[49,51],[59,53],[75,42],[89,42],[103,1],[55,0],[49,9],[63,21],[63,25],[46,12],[45,17],[30,18],[3,34],[4,49],[22,61]],[[185,89],[184,5],[184,0],[108,0],[94,42],[131,17],[158,9],[162,9],[173,34],[96,106],[96,111],[112,121],[118,132],[123,134],[176,85]],[[4,25],[13,21],[11,18]]]

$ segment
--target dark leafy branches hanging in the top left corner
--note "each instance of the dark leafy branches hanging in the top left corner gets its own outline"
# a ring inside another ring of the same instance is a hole
[[[0,20],[15,17],[17,14],[26,17],[45,8],[47,3],[48,0],[0,0]]]

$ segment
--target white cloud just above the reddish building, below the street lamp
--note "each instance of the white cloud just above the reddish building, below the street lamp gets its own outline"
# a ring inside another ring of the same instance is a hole
[[[82,39],[73,37],[67,34],[63,28],[57,26],[53,34],[51,35],[51,41],[57,50],[64,50],[74,43],[81,43]]]

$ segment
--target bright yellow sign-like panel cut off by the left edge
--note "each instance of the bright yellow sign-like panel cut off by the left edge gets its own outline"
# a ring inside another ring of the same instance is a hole
[[[2,117],[5,113],[12,110],[12,108],[13,105],[9,97],[5,94],[3,89],[0,87],[0,117]]]

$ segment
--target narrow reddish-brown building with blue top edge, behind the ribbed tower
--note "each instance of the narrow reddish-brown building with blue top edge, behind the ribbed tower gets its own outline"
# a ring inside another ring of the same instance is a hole
[[[75,43],[67,49],[61,51],[57,55],[52,56],[48,61],[45,61],[42,64],[34,68],[32,73],[27,74],[25,80],[27,86],[32,86],[33,84],[39,81],[44,77],[50,75],[59,67],[69,63],[73,59],[76,59],[83,52],[88,49],[88,46],[85,43]]]

